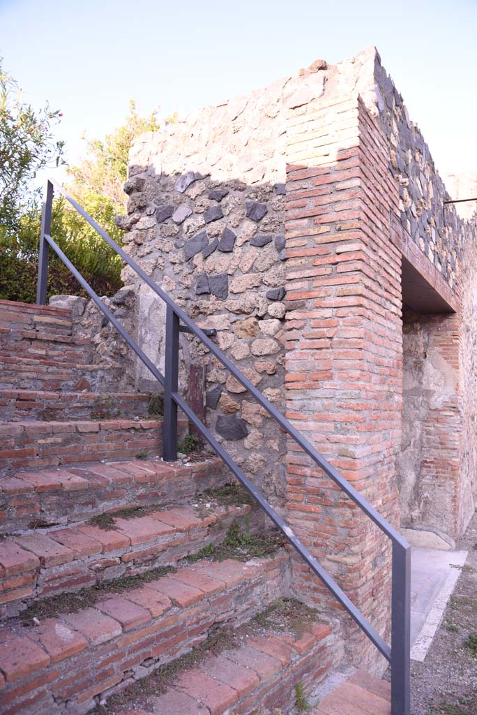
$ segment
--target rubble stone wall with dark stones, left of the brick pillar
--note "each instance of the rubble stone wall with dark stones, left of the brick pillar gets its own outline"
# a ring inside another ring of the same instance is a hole
[[[250,98],[204,109],[131,149],[126,250],[283,410],[285,294],[283,79]],[[290,90],[291,92],[291,90]],[[164,305],[135,286],[138,337],[164,369]],[[239,465],[283,500],[285,441],[198,340],[181,335],[186,365],[206,368],[207,422]],[[147,375],[136,368],[136,384]],[[270,455],[273,458],[270,459]]]

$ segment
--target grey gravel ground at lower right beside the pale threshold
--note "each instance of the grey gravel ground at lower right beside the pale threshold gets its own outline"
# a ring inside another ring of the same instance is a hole
[[[457,548],[466,565],[426,659],[411,661],[412,715],[477,715],[477,512]]]

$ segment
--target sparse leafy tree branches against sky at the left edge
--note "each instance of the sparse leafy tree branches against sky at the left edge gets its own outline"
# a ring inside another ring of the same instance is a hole
[[[61,112],[48,104],[35,112],[0,58],[0,236],[19,226],[22,207],[32,200],[39,169],[58,165],[64,142],[54,139]]]

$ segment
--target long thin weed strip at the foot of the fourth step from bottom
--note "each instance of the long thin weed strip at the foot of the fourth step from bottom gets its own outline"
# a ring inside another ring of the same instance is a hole
[[[101,581],[96,586],[81,588],[81,591],[75,593],[60,593],[58,596],[32,603],[26,611],[21,612],[20,618],[28,625],[33,618],[56,618],[58,613],[77,613],[83,608],[94,606],[97,601],[104,598],[106,593],[123,593],[129,588],[139,588],[145,583],[151,583],[176,571],[174,566],[159,566],[159,568],[152,568],[151,571],[136,573],[134,576],[121,576],[111,581]]]

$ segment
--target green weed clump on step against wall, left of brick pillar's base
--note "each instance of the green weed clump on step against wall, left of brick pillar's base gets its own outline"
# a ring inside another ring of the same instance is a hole
[[[192,563],[201,558],[211,558],[212,561],[225,561],[226,558],[248,561],[251,558],[271,556],[284,545],[285,541],[278,531],[270,531],[266,536],[256,536],[249,531],[241,531],[239,522],[234,519],[222,543],[217,546],[204,546],[188,558]]]

